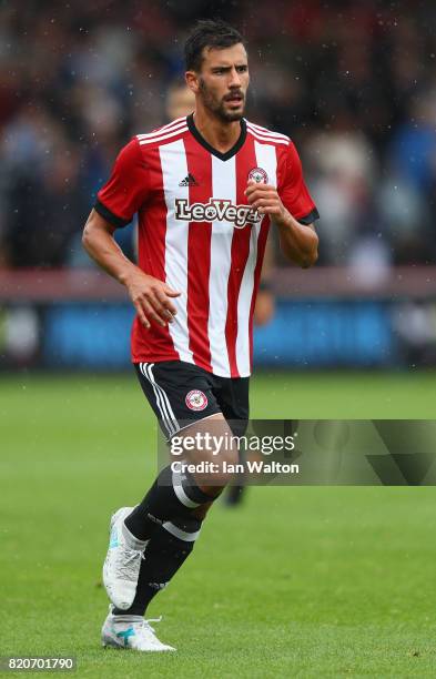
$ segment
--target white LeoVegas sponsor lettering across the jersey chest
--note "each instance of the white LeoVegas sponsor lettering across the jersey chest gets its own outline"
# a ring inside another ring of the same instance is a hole
[[[257,224],[262,216],[250,205],[233,205],[224,199],[210,199],[209,203],[189,204],[186,199],[175,199],[175,217],[186,222],[231,222],[236,229]]]

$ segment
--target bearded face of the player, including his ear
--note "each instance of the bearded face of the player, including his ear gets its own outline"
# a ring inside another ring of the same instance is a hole
[[[205,48],[200,73],[189,71],[186,81],[203,107],[222,122],[241,120],[249,89],[249,62],[242,43],[219,50]]]

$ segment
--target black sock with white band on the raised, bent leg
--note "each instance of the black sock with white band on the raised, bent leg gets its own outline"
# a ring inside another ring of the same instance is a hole
[[[213,501],[196,486],[192,476],[176,474],[165,467],[145,495],[142,503],[126,517],[124,524],[139,540],[148,540],[156,524],[176,517],[190,517],[192,509]]]

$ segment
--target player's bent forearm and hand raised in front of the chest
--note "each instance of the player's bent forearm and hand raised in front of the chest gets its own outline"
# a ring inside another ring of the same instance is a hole
[[[274,186],[249,182],[246,197],[261,214],[268,214],[278,229],[280,246],[287,260],[306,268],[318,256],[318,236],[313,224],[297,222],[283,205]]]

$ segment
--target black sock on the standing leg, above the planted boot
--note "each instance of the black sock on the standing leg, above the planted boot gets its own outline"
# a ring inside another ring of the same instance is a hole
[[[113,615],[144,615],[152,598],[166,587],[193,550],[201,524],[196,518],[176,518],[155,529],[141,563],[134,601],[129,610],[115,608]]]

